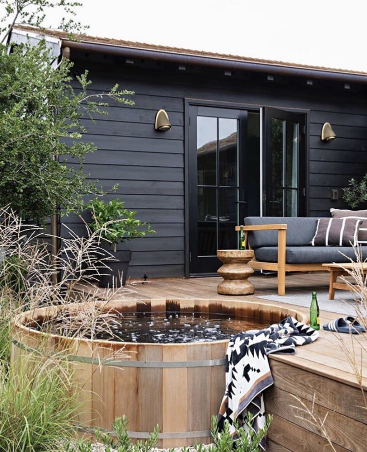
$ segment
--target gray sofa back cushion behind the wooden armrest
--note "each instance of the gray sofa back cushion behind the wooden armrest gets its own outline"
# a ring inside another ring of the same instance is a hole
[[[287,246],[307,246],[315,235],[317,220],[318,218],[305,217],[246,217],[245,225],[287,224]],[[250,231],[248,242],[254,249],[277,246],[278,231]]]

